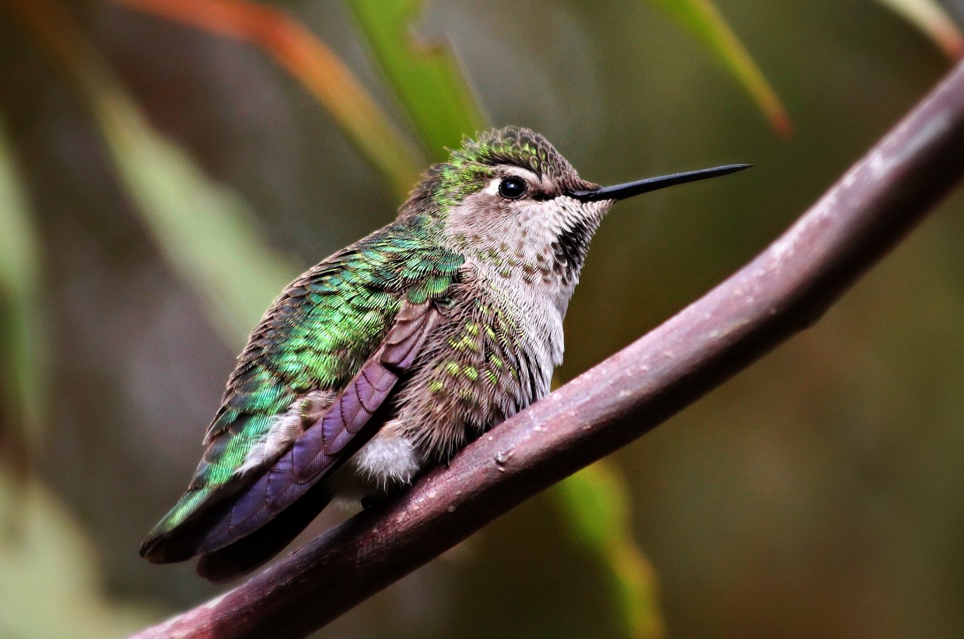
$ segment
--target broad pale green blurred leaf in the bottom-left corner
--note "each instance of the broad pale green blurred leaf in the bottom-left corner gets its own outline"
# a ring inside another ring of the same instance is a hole
[[[121,637],[158,617],[100,595],[83,529],[36,478],[0,468],[0,514],[14,509],[0,529],[0,637]]]

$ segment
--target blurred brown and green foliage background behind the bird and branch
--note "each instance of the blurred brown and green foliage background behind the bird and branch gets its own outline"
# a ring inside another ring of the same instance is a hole
[[[530,126],[603,183],[756,164],[605,220],[564,381],[763,249],[951,68],[961,23],[933,0],[0,0],[0,638],[123,636],[224,590],[137,548],[234,355],[462,134]],[[964,636],[962,214],[317,636]]]

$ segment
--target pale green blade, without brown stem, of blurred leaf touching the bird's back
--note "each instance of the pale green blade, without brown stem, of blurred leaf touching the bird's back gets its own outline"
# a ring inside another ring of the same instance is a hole
[[[120,176],[168,262],[201,291],[228,340],[243,343],[297,269],[261,240],[241,198],[154,132],[127,97],[114,93],[96,111]]]

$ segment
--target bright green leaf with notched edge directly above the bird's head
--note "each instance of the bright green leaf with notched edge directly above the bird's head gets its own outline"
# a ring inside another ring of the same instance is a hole
[[[486,128],[486,118],[446,43],[421,42],[421,0],[349,0],[371,50],[436,160]]]

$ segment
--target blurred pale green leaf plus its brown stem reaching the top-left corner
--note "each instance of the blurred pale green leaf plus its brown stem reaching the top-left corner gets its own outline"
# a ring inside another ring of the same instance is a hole
[[[297,273],[258,236],[254,215],[156,133],[72,18],[49,0],[7,0],[80,90],[120,182],[169,264],[201,293],[231,344]]]

